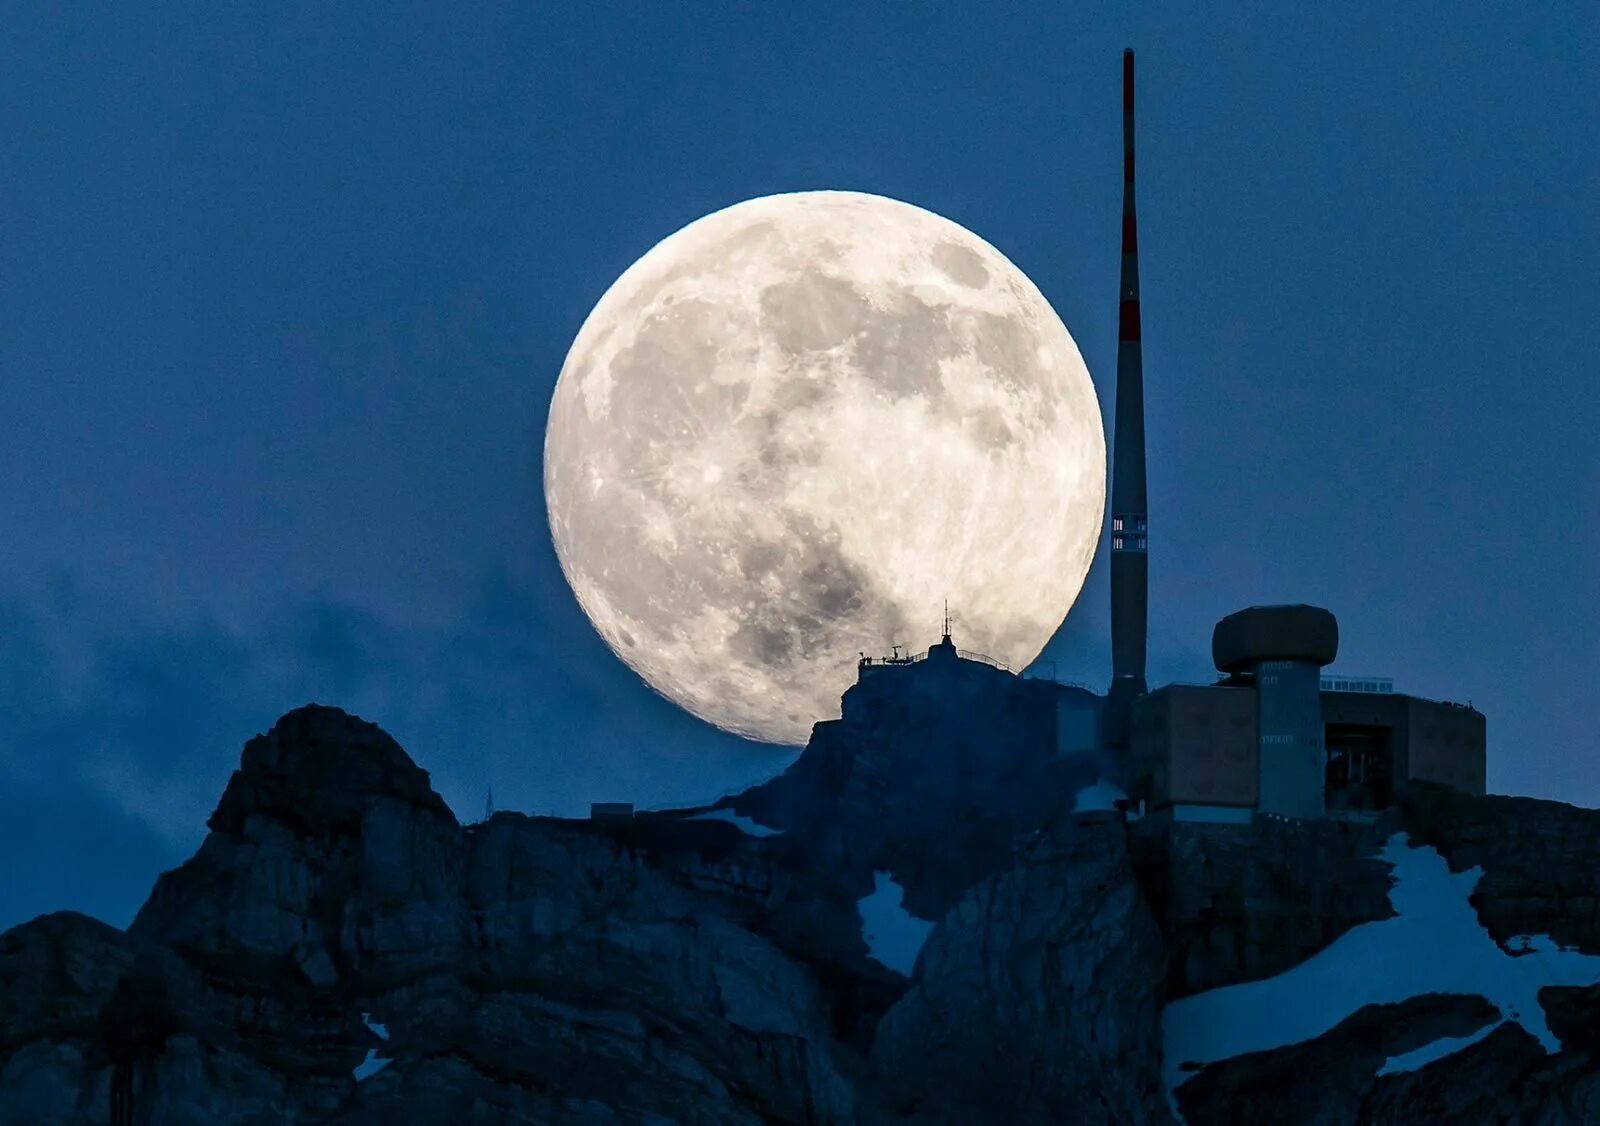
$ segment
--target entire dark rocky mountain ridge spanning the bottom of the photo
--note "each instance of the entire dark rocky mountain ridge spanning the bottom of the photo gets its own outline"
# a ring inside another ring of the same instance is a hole
[[[1074,814],[1093,766],[1038,752],[1048,704],[941,675],[858,688],[726,819],[464,827],[382,731],[291,712],[126,932],[62,913],[0,936],[0,1124],[1600,1121],[1600,968],[1578,972],[1600,814],[1448,793],[1365,825]],[[1536,1012],[1406,995],[1163,1060],[1179,1004],[1414,915],[1397,833],[1482,867],[1461,910],[1494,956],[1576,971]],[[906,963],[862,921],[896,884],[926,931]]]

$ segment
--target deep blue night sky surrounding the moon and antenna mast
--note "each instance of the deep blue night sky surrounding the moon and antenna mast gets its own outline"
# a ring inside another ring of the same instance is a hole
[[[1109,408],[1139,51],[1152,681],[1314,601],[1600,805],[1600,6],[139,3],[0,43],[0,926],[125,923],[288,707],[462,817],[707,800],[787,752],[605,648],[544,414],[602,291],[858,189],[1027,272]],[[1107,411],[1109,422],[1109,411]],[[1109,670],[1104,555],[1046,649]]]

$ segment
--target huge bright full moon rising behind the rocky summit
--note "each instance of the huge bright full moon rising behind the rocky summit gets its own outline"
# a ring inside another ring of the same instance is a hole
[[[803,744],[858,653],[939,637],[1013,669],[1106,505],[1083,358],[1000,251],[856,192],[698,219],[589,313],[544,438],[579,605],[662,696]]]

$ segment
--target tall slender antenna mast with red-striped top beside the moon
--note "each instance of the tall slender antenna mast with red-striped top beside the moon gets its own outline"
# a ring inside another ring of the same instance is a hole
[[[1122,294],[1117,312],[1117,421],[1110,477],[1110,693],[1107,741],[1125,745],[1142,696],[1149,619],[1144,496],[1144,361],[1139,352],[1139,224],[1133,208],[1133,51],[1122,54]]]

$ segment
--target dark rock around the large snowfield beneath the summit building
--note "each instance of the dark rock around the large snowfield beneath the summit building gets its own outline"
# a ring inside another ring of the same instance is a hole
[[[1518,953],[1530,956],[1522,936],[1563,934],[1566,953],[1560,940],[1547,942],[1552,956],[1581,955],[1587,916],[1560,924],[1560,905],[1582,902],[1594,886],[1594,852],[1581,841],[1594,840],[1595,830],[1595,811],[1416,787],[1400,808],[1370,822],[1184,825],[1136,832],[1133,843],[1147,892],[1160,905],[1171,955],[1168,995],[1178,998],[1274,977],[1354,928],[1392,918],[1392,881],[1376,854],[1397,833],[1413,846],[1437,848],[1458,873],[1474,868],[1467,918],[1475,915],[1477,923],[1469,928],[1482,926],[1478,940],[1490,950],[1498,942],[1507,964]],[[1491,872],[1499,876],[1491,880]],[[1413,902],[1413,910],[1446,908],[1426,897]],[[1456,950],[1437,955],[1448,961]],[[1347,966],[1352,976],[1382,971]],[[1600,1038],[1592,1033],[1600,1027],[1600,987],[1542,988],[1538,1008],[1525,1016],[1531,1027],[1550,1028],[1558,1051],[1546,1051],[1512,1006],[1496,1008],[1480,995],[1422,995],[1370,1004],[1301,1043],[1210,1064],[1178,1086],[1176,1100],[1190,1126],[1600,1121]],[[1488,1035],[1432,1062],[1386,1068],[1392,1057],[1478,1032]]]

